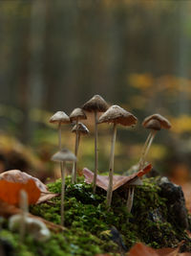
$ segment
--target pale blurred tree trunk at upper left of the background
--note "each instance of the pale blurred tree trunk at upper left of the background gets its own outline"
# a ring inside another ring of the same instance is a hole
[[[35,0],[31,2],[31,33],[30,33],[30,60],[27,104],[24,109],[23,119],[23,140],[27,143],[32,138],[32,133],[37,123],[32,122],[31,115],[33,108],[40,108],[43,105],[43,49],[45,32],[45,2]]]

